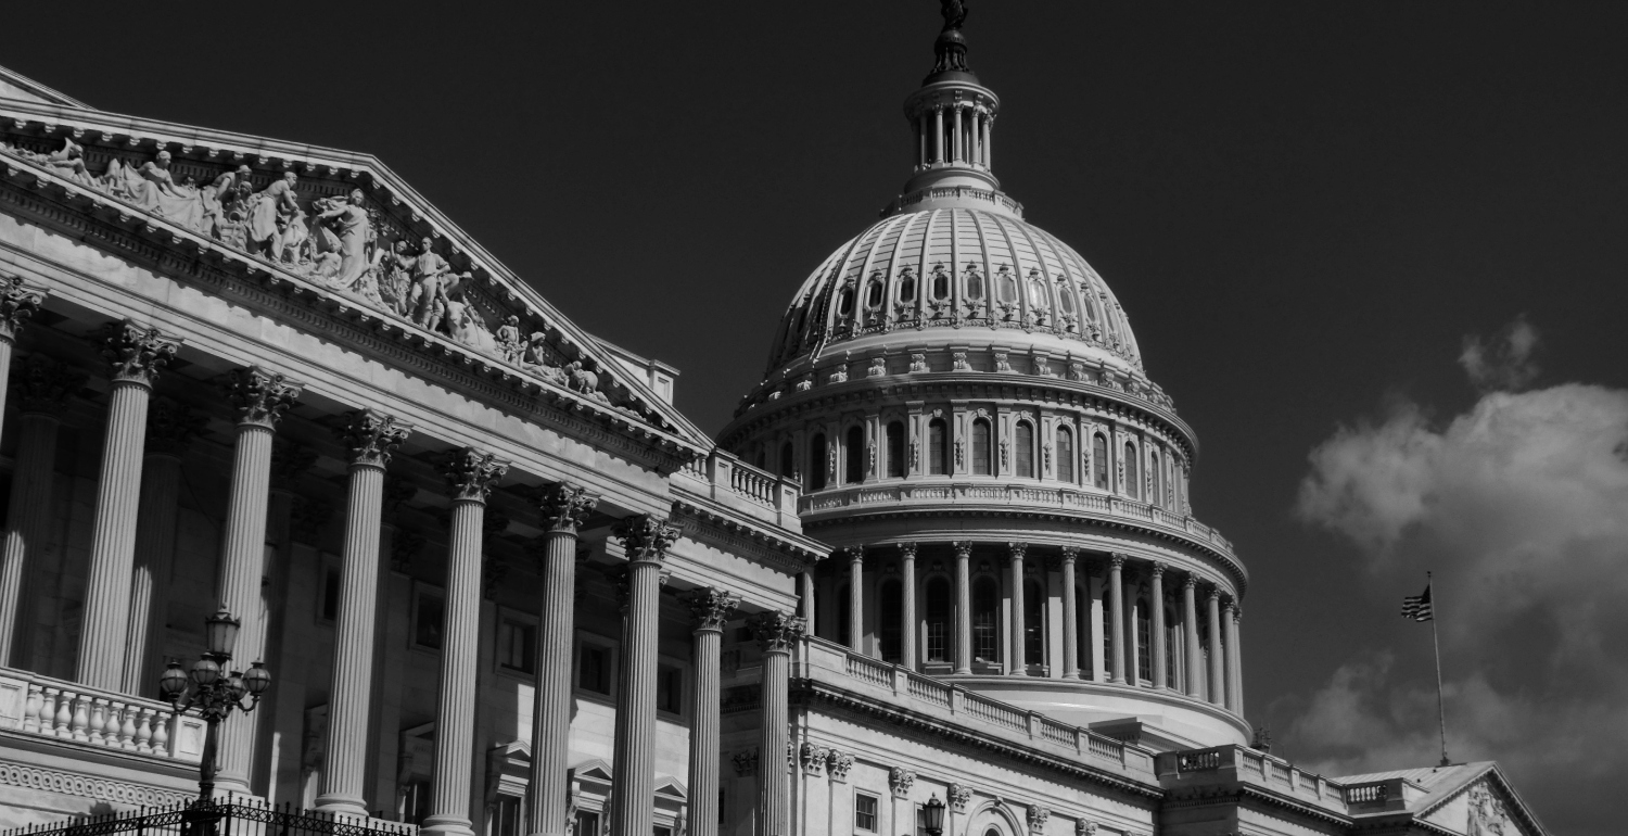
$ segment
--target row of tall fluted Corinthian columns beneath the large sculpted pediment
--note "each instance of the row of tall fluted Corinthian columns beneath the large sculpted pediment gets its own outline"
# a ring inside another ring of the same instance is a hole
[[[37,306],[39,301],[42,295],[33,305]],[[0,316],[0,321],[15,324],[20,318]],[[0,326],[0,355],[10,357],[13,337],[15,328]],[[124,321],[107,326],[99,341],[111,362],[112,386],[75,676],[91,688],[142,693],[151,684],[150,660],[155,655],[153,644],[158,642],[151,609],[161,609],[174,549],[179,481],[176,445],[184,442],[189,429],[197,429],[197,422],[177,416],[164,401],[151,403],[153,381],[176,355],[179,337]],[[55,448],[50,438],[57,427],[55,414],[60,412],[63,398],[83,385],[83,375],[34,355],[21,365],[16,380],[21,381],[24,396],[18,430],[24,438],[13,477],[13,525],[7,531],[0,559],[0,665],[13,663],[11,650],[20,644],[18,629],[28,624],[28,598],[23,595],[28,564],[39,559],[50,525],[50,453]],[[7,380],[0,380],[0,399],[8,388]],[[300,383],[259,367],[228,375],[226,398],[236,430],[217,590],[223,606],[243,619],[231,665],[234,668],[259,662],[265,647],[265,624],[256,614],[265,572],[272,442],[282,416],[300,396]],[[150,412],[160,416],[151,424]],[[156,432],[150,433],[150,427]],[[327,758],[316,802],[324,812],[358,816],[368,813],[363,787],[370,714],[376,709],[371,701],[374,634],[383,616],[378,611],[378,579],[384,476],[392,453],[412,432],[412,427],[373,407],[345,414],[335,429],[347,450],[347,502],[334,653],[335,660],[345,663],[332,667]],[[441,466],[451,518],[431,808],[422,826],[425,833],[474,834],[470,774],[475,755],[484,518],[487,499],[508,468],[495,453],[469,447],[453,448]],[[576,543],[578,530],[594,510],[597,497],[580,486],[554,482],[536,500],[545,533],[526,833],[565,836],[570,829],[567,753],[575,681],[571,647]],[[679,533],[663,518],[633,515],[617,521],[614,535],[620,538],[628,562],[610,833],[648,836],[653,828],[656,766],[659,574],[666,551]],[[694,803],[689,808],[687,833],[695,836],[718,833],[718,657],[721,631],[736,603],[733,595],[716,588],[694,590],[689,595],[695,619],[690,694],[695,725],[690,730],[689,785]],[[790,653],[803,631],[803,619],[760,613],[751,624],[765,650],[762,751],[783,751],[788,746]],[[259,715],[234,714],[221,725],[220,792],[252,794],[249,772],[254,717]],[[757,833],[786,833],[790,785],[785,771],[762,769],[759,782],[762,803]]]

